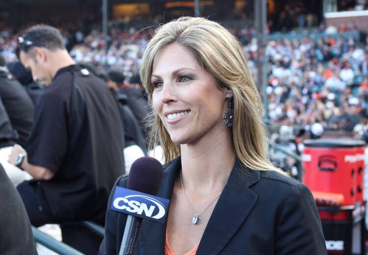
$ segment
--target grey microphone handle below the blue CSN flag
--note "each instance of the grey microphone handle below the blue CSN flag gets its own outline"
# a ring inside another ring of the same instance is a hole
[[[128,215],[119,255],[133,255],[142,218]]]

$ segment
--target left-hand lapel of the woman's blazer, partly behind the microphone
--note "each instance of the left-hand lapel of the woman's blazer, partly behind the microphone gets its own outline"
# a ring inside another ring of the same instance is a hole
[[[158,197],[171,199],[176,177],[181,169],[181,159],[178,157],[169,163],[165,169],[162,185],[158,190]],[[165,253],[166,224],[143,220],[138,235],[141,255],[163,255]]]

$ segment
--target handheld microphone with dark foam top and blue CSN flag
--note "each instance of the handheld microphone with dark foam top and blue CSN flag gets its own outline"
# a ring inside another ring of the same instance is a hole
[[[128,189],[115,188],[111,209],[128,214],[119,255],[132,255],[142,219],[164,223],[170,201],[156,197],[163,179],[158,160],[142,157],[131,164]]]

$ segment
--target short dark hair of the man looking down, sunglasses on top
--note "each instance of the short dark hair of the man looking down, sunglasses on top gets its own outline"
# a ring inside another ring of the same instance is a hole
[[[28,53],[33,47],[45,47],[50,50],[65,49],[60,31],[50,25],[38,24],[28,28],[22,37],[18,38],[19,45],[16,53]]]

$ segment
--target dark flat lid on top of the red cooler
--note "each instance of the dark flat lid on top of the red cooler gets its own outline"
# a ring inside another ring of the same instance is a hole
[[[353,148],[366,145],[365,141],[354,139],[307,139],[303,143],[305,147],[323,148]]]

